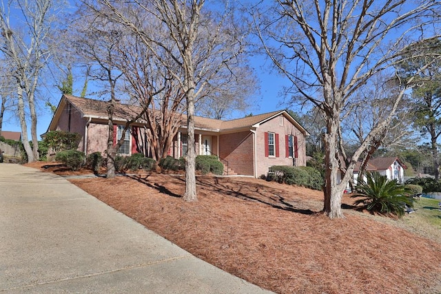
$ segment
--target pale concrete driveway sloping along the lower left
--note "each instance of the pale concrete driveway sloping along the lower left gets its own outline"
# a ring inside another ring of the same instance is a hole
[[[0,164],[0,292],[270,293],[37,169]]]

